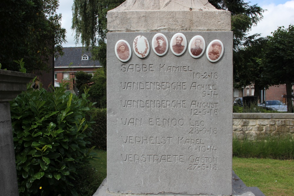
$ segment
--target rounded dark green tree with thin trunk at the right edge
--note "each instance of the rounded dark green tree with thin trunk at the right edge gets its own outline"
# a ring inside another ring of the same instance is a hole
[[[287,95],[292,95],[294,83],[294,25],[284,26],[275,30],[265,51],[266,69],[268,77],[275,84],[286,84]],[[288,112],[293,113],[291,98],[287,98]]]

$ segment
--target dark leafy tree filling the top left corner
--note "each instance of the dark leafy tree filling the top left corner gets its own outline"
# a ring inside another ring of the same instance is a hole
[[[46,61],[62,54],[66,30],[58,0],[6,0],[0,6],[0,63],[2,68],[18,71],[14,60],[24,58],[28,73],[48,69]]]

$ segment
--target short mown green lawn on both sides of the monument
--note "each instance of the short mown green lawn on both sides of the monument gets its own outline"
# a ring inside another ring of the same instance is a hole
[[[94,150],[91,161],[100,185],[106,177],[106,151]],[[294,196],[294,160],[233,157],[233,170],[248,187],[258,187],[266,196]],[[97,187],[98,188],[98,187]]]

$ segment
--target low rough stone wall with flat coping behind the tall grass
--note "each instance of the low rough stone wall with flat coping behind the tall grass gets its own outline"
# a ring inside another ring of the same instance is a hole
[[[267,135],[294,138],[294,113],[233,113],[233,137],[255,139]]]

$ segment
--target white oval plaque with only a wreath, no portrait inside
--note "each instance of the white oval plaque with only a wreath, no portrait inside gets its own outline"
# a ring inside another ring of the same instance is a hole
[[[147,38],[142,35],[137,36],[133,42],[133,49],[138,57],[147,57],[150,51],[150,45]]]

